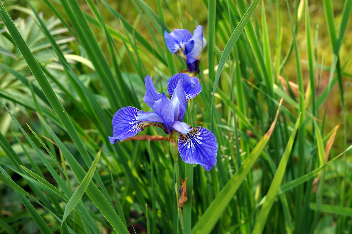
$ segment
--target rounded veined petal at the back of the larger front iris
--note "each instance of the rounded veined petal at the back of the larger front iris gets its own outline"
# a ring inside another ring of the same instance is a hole
[[[177,73],[170,77],[167,82],[170,97],[174,94],[174,90],[180,79],[183,79],[183,90],[186,92],[187,102],[202,91],[202,85],[197,77],[190,77],[186,73]]]

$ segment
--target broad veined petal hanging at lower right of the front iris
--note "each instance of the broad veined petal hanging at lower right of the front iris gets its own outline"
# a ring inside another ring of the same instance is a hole
[[[186,163],[197,163],[207,171],[216,164],[218,142],[213,134],[203,127],[197,127],[178,139],[178,151]]]

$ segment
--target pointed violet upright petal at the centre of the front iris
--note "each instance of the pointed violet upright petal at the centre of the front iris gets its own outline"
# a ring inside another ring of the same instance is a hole
[[[172,132],[171,124],[174,122],[174,105],[171,100],[163,93],[163,97],[154,104],[154,112],[163,119],[169,134]]]

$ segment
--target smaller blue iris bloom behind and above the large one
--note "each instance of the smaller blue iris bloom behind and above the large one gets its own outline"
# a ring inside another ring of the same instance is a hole
[[[198,25],[193,31],[193,36],[186,29],[175,29],[164,32],[166,46],[173,54],[178,54],[187,61],[189,72],[199,73],[199,61],[207,41],[203,37],[203,26]]]

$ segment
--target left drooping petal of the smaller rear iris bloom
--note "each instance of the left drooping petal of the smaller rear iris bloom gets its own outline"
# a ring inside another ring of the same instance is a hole
[[[186,29],[175,29],[170,33],[164,31],[165,44],[173,54],[184,54],[186,43],[191,37],[192,34]]]

